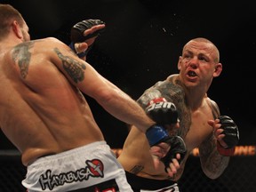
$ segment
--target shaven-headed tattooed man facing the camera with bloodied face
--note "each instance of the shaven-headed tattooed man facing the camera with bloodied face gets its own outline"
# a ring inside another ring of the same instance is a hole
[[[164,164],[159,169],[153,166],[145,135],[136,129],[136,125],[132,126],[118,160],[124,166],[127,180],[135,192],[179,191],[177,181],[193,148],[199,148],[205,175],[216,179],[228,166],[229,156],[233,155],[239,140],[235,122],[229,116],[220,116],[217,103],[207,95],[212,79],[220,76],[222,71],[217,47],[205,38],[190,40],[183,47],[178,69],[179,74],[168,76],[166,80],[148,88],[138,102],[158,124],[169,124],[170,120],[168,122],[168,119],[164,118],[163,110],[150,105],[161,106],[164,100],[175,104],[180,128],[176,130],[178,132],[169,130],[170,134],[185,141],[187,154],[180,164],[180,169],[172,166],[170,177],[170,173],[164,172]],[[180,140],[176,143],[177,147],[173,150],[179,151]]]

